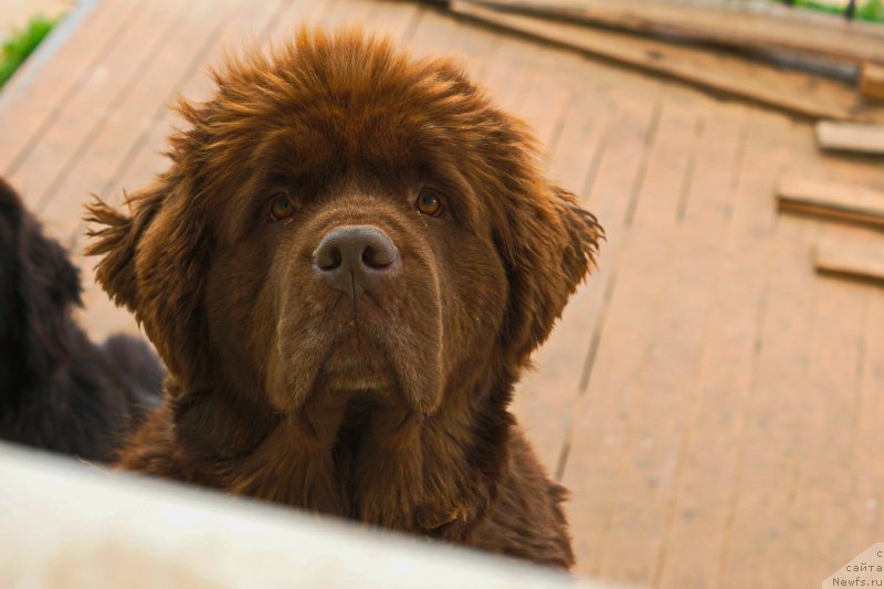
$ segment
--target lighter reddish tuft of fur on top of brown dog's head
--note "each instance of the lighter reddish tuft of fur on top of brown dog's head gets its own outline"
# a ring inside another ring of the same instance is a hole
[[[305,168],[333,158],[419,160],[432,148],[480,157],[502,123],[453,62],[346,34],[298,39],[218,81],[212,143],[271,147],[260,155],[287,152]]]

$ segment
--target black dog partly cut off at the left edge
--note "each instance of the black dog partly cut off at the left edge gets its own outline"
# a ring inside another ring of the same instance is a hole
[[[165,371],[128,336],[93,345],[74,323],[80,274],[0,179],[0,439],[107,462]]]

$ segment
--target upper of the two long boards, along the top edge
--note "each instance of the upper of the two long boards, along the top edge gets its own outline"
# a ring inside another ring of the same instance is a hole
[[[480,0],[484,4],[518,8],[639,33],[678,36],[727,48],[785,51],[860,64],[884,62],[884,43],[850,22],[814,25],[768,14],[645,0]]]

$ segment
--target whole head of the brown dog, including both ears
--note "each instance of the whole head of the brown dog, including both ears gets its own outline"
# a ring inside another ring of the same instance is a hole
[[[98,278],[172,375],[281,412],[368,392],[427,414],[527,360],[600,230],[522,124],[450,63],[355,34],[215,77],[133,215],[92,208]]]

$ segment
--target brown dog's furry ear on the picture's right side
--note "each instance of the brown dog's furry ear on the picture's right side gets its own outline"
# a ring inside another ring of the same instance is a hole
[[[568,297],[596,263],[603,231],[555,183],[532,190],[509,220],[506,347],[519,361],[546,340]]]

